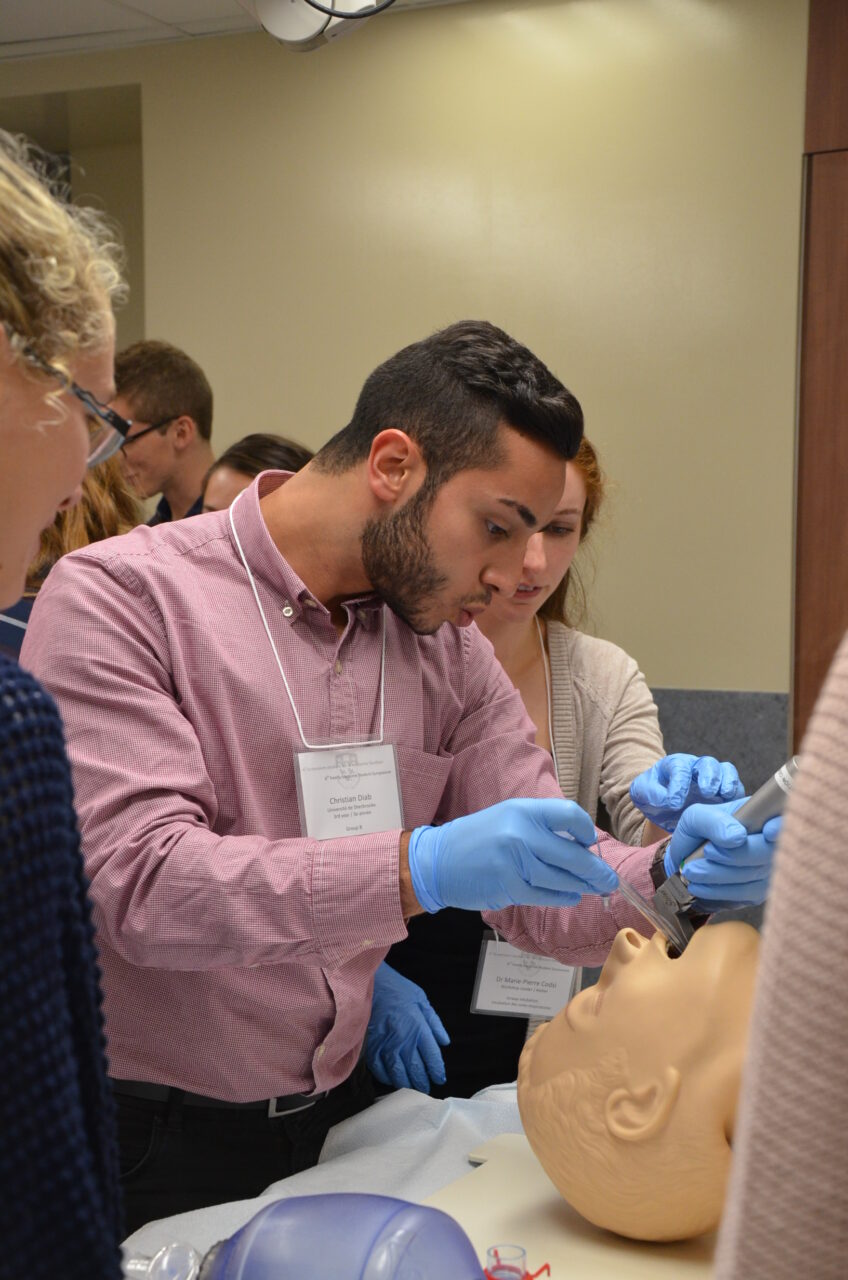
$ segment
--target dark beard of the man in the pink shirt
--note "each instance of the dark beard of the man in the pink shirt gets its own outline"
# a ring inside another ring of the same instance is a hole
[[[427,517],[434,493],[424,484],[410,500],[384,520],[369,520],[363,529],[363,567],[374,590],[418,635],[442,626],[427,620],[427,611],[447,586],[427,538]]]

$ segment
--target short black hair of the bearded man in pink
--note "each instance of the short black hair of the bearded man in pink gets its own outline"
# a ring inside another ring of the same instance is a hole
[[[502,422],[562,458],[583,436],[578,401],[532,351],[485,320],[461,320],[379,365],[316,462],[347,471],[393,426],[420,447],[432,490],[457,471],[497,466]]]

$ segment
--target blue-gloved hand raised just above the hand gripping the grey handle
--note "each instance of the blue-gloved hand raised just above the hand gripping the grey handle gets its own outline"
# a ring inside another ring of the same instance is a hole
[[[630,799],[646,818],[674,831],[690,804],[719,804],[744,795],[737,767],[711,755],[665,755],[630,783]]]

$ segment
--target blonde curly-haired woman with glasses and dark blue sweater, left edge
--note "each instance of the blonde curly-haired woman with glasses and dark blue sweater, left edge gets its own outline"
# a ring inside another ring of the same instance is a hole
[[[51,195],[0,132],[0,605],[86,465],[126,433],[101,216]],[[85,646],[86,640],[82,639]],[[0,1277],[120,1280],[100,979],[56,707],[0,655]]]

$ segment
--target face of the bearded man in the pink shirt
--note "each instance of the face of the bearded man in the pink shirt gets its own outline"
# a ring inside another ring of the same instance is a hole
[[[469,626],[520,579],[530,535],[562,494],[565,462],[501,426],[502,462],[460,471],[430,498],[419,492],[363,532],[363,564],[389,608],[419,635]]]

